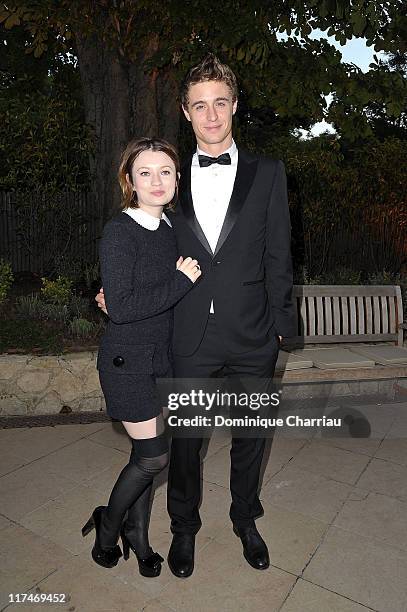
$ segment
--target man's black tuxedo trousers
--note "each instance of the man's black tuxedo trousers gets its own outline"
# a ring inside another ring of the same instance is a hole
[[[215,315],[209,315],[202,342],[190,357],[174,357],[176,378],[210,378],[223,369],[228,376],[271,378],[278,357],[279,339],[272,334],[260,348],[229,353],[222,344]],[[172,533],[197,533],[201,498],[200,449],[202,438],[176,438],[171,444],[167,508]],[[258,497],[265,438],[232,437],[230,450],[229,516],[235,527],[253,525],[264,511]]]

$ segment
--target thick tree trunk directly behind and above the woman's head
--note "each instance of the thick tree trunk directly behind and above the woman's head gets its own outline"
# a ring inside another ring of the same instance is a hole
[[[152,36],[138,61],[128,64],[97,35],[76,35],[85,117],[95,134],[90,169],[104,222],[119,209],[117,171],[129,139],[161,136],[177,145],[178,84],[173,68],[159,73],[144,67],[158,42]]]

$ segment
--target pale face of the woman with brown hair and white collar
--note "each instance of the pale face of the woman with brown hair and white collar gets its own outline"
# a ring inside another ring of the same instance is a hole
[[[161,214],[175,193],[177,173],[172,159],[162,151],[143,151],[134,160],[131,174],[139,207],[150,214]]]

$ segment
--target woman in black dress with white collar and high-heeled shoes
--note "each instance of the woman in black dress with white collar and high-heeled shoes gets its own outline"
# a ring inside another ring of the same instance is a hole
[[[148,540],[153,479],[168,463],[156,377],[171,376],[172,307],[201,274],[190,257],[177,260],[164,209],[175,204],[179,160],[172,145],[141,138],[123,153],[119,182],[122,211],[104,227],[100,267],[109,313],[97,367],[109,416],[122,421],[131,438],[129,463],[107,506],[98,506],[82,528],[96,529],[92,557],[113,567],[135,553],[144,576],[158,576],[163,558]],[[124,517],[127,512],[127,519]]]

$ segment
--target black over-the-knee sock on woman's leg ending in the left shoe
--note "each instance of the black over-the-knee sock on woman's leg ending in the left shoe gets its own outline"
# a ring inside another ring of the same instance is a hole
[[[168,463],[165,434],[143,440],[132,439],[132,446],[130,461],[120,472],[102,514],[100,544],[103,548],[117,544],[126,511],[151,487],[154,476]]]

